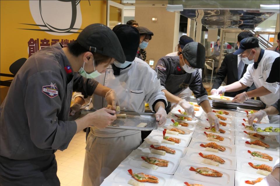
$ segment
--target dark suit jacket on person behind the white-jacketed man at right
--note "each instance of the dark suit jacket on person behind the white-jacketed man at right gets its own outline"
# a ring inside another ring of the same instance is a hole
[[[241,74],[241,78],[243,77],[244,73],[247,69],[247,64],[245,64],[243,72]],[[220,85],[223,83],[225,77],[227,77],[227,85],[230,85],[236,81],[238,81],[238,70],[237,70],[237,55],[233,55],[233,53],[229,53],[225,55],[225,58],[221,64],[220,69],[217,72],[216,78],[214,80],[214,84],[212,89],[218,89]],[[238,92],[225,92],[225,96],[234,97],[237,94],[240,94],[244,91],[247,92],[249,87],[239,90]],[[255,89],[255,85],[253,84],[249,90]]]

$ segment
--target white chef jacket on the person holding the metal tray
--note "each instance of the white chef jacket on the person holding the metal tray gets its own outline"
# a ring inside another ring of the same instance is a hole
[[[164,100],[167,105],[167,99],[164,96],[164,92],[161,91],[157,73],[146,62],[137,57],[131,66],[120,70],[119,76],[114,76],[114,71],[110,65],[106,72],[95,78],[95,80],[101,85],[115,90],[120,101],[121,111],[145,112],[145,101],[149,103],[150,109],[153,110],[153,103],[158,99]],[[101,96],[93,94],[92,100],[94,109],[107,107],[106,99]],[[93,128],[94,135],[103,138],[128,136],[140,132]]]

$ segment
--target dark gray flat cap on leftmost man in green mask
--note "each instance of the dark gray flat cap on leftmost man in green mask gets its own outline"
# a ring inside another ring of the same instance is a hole
[[[104,24],[90,24],[81,31],[77,41],[91,52],[115,58],[118,62],[125,62],[125,54],[116,34]]]

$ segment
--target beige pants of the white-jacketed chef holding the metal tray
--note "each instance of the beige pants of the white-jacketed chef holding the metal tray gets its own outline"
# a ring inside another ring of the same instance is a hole
[[[141,132],[129,136],[87,138],[82,186],[99,186],[131,152],[141,145]]]

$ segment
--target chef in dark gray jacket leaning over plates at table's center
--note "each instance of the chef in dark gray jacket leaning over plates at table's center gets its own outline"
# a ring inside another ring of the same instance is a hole
[[[197,42],[190,42],[183,48],[179,56],[162,57],[157,62],[155,69],[160,78],[161,90],[164,92],[168,106],[167,113],[171,110],[171,103],[178,103],[186,113],[194,116],[193,106],[178,95],[187,87],[195,94],[197,103],[207,113],[210,127],[214,123],[216,131],[219,130],[219,120],[211,110],[207,92],[202,85],[199,69],[204,67],[205,48]]]

